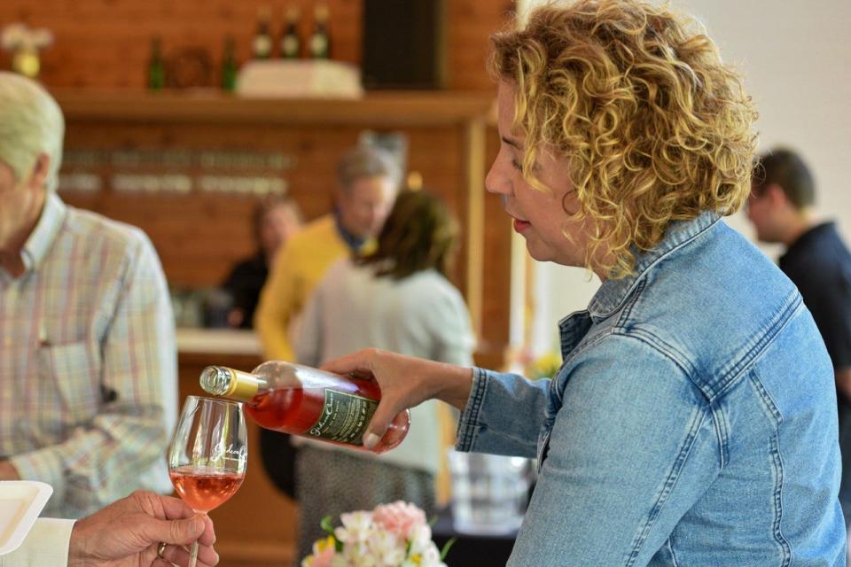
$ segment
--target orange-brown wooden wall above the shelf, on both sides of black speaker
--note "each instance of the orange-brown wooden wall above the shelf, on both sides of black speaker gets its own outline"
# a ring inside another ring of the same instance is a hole
[[[332,58],[360,63],[362,2],[326,1],[331,9]],[[206,50],[217,87],[225,37],[234,38],[237,59],[245,62],[251,57],[258,9],[271,8],[277,40],[291,4],[301,8],[300,31],[306,43],[313,30],[313,0],[4,0],[0,26],[23,21],[53,31],[55,43],[42,58],[42,80],[51,87],[144,89],[155,35],[162,38],[167,58],[190,47]],[[512,9],[510,0],[447,0],[449,88],[494,88],[485,72],[488,35],[507,25]],[[8,67],[7,54],[0,53],[0,64]]]

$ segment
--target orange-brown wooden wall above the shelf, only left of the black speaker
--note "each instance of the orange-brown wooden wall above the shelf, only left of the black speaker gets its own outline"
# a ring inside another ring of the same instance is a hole
[[[300,29],[306,43],[313,30],[316,3],[311,0],[4,0],[0,25],[24,21],[53,31],[55,43],[43,51],[42,59],[43,81],[53,87],[144,89],[155,35],[162,38],[167,58],[189,47],[206,50],[217,86],[225,37],[234,37],[238,61],[248,60],[258,9],[271,8],[271,30],[277,39],[290,4],[301,6]],[[360,61],[361,3],[326,0],[326,4],[331,9],[333,58]]]

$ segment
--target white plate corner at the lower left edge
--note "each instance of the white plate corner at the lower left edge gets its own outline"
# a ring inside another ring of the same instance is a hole
[[[52,493],[43,482],[0,482],[0,555],[20,547]]]

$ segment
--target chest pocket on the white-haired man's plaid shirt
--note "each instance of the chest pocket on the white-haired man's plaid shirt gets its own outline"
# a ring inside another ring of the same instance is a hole
[[[101,400],[99,366],[86,342],[39,348],[39,377],[43,387],[54,392],[62,423],[85,423],[98,413]]]

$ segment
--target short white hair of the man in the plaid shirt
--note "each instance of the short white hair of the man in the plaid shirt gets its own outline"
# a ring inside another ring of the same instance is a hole
[[[56,190],[63,136],[65,119],[53,97],[37,82],[0,71],[0,161],[12,167],[19,183],[45,153],[51,161],[44,185]]]

